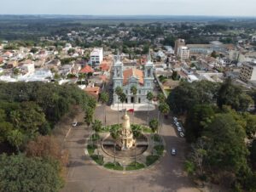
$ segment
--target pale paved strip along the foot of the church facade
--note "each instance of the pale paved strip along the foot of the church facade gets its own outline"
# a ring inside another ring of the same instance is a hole
[[[118,110],[118,104],[112,104],[111,110]],[[119,110],[133,109],[133,104],[119,104]],[[135,111],[148,111],[148,104],[134,104]],[[154,104],[149,104],[149,110],[155,110]]]

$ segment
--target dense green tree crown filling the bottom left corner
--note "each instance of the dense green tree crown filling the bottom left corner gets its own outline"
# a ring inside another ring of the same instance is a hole
[[[64,185],[61,167],[51,158],[0,155],[0,192],[60,191]]]

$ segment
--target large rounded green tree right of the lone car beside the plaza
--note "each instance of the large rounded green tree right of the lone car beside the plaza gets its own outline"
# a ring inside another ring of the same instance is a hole
[[[246,133],[230,114],[218,114],[202,134],[207,142],[207,166],[237,173],[247,164]]]

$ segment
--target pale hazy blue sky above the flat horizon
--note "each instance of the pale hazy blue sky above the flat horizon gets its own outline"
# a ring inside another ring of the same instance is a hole
[[[0,0],[0,14],[256,16],[256,0]]]

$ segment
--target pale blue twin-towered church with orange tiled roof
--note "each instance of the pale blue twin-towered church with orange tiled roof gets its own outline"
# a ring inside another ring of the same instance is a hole
[[[148,62],[144,65],[144,70],[138,70],[135,67],[124,69],[124,65],[118,55],[113,64],[113,104],[118,103],[118,96],[114,93],[115,88],[123,88],[126,94],[126,104],[146,104],[148,103],[147,94],[154,89],[154,65],[148,56]],[[137,94],[131,93],[131,87],[137,88]]]

